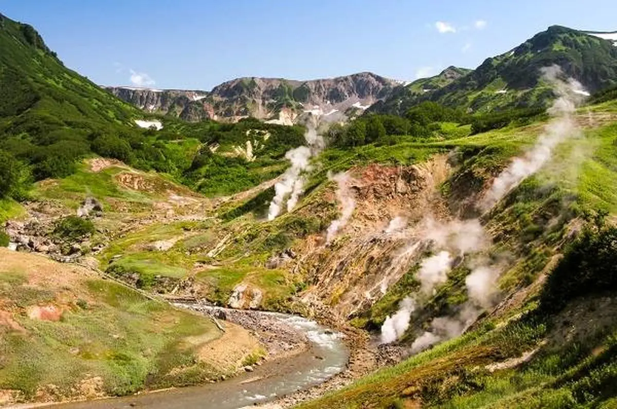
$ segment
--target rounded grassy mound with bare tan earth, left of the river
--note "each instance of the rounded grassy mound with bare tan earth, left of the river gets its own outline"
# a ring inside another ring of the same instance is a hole
[[[58,399],[86,393],[86,379],[95,379],[97,392],[118,395],[220,375],[195,355],[220,336],[211,321],[83,268],[4,249],[0,257],[0,311],[15,323],[0,327],[0,389],[22,399],[46,390]],[[60,320],[30,318],[37,305],[60,308]],[[199,345],[184,341],[196,336]]]

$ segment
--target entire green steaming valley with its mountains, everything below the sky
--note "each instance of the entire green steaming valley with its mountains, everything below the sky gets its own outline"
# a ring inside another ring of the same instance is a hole
[[[0,405],[617,402],[611,39],[205,92],[0,23]]]

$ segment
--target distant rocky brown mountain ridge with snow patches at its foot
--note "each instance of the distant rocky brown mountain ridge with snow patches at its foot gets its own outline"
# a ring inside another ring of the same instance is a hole
[[[273,123],[297,122],[304,114],[355,115],[388,97],[402,84],[370,72],[336,78],[296,81],[283,78],[237,78],[212,91],[107,87],[112,94],[146,112],[184,120],[235,121],[255,117]]]

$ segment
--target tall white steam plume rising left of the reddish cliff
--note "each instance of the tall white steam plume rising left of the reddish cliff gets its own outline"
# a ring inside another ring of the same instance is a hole
[[[304,193],[304,175],[310,170],[310,159],[323,150],[323,138],[317,133],[314,125],[309,125],[304,139],[308,146],[299,146],[287,151],[285,158],[291,162],[283,179],[275,184],[275,196],[270,202],[268,220],[274,220],[283,210],[283,204],[287,199],[287,211],[291,212],[302,193]]]

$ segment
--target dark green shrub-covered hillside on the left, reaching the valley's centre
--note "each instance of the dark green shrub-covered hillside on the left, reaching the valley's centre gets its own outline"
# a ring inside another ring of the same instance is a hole
[[[1,15],[0,50],[0,199],[23,199],[31,181],[71,175],[93,155],[167,173],[211,196],[229,194],[276,176],[284,152],[304,143],[301,126],[147,117],[64,67],[33,27]],[[138,119],[164,128],[139,128]],[[242,156],[247,141],[259,143],[255,158]]]

